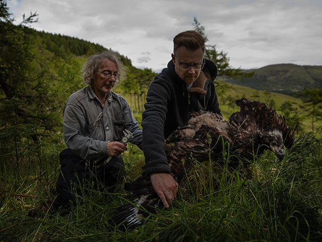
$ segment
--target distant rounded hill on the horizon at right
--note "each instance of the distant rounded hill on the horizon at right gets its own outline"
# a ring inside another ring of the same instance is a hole
[[[250,71],[255,73],[251,78],[225,79],[224,81],[287,95],[294,95],[304,87],[322,89],[322,66],[278,64],[246,72]]]

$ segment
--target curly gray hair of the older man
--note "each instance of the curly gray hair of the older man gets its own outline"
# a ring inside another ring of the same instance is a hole
[[[117,73],[124,77],[125,68],[120,57],[112,50],[104,51],[102,53],[91,55],[83,65],[82,72],[85,84],[92,84],[94,74],[100,70],[100,65],[104,59],[109,59],[111,62],[114,62],[117,68]]]

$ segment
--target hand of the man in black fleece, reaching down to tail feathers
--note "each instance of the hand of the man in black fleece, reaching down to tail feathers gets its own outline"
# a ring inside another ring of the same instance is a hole
[[[157,193],[163,204],[169,208],[171,201],[177,197],[178,183],[168,173],[150,174],[151,183],[154,191]]]

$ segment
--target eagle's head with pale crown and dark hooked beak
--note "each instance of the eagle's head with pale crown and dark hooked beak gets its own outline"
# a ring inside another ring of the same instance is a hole
[[[284,158],[283,133],[280,130],[271,130],[263,134],[262,144],[273,151],[279,161]]]

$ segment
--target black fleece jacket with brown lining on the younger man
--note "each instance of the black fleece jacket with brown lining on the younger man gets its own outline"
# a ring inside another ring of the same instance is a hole
[[[141,123],[147,175],[171,172],[165,152],[165,139],[178,127],[187,124],[190,113],[206,110],[221,115],[214,85],[216,76],[217,67],[208,59],[189,90],[176,74],[173,61],[155,76],[147,92]]]

